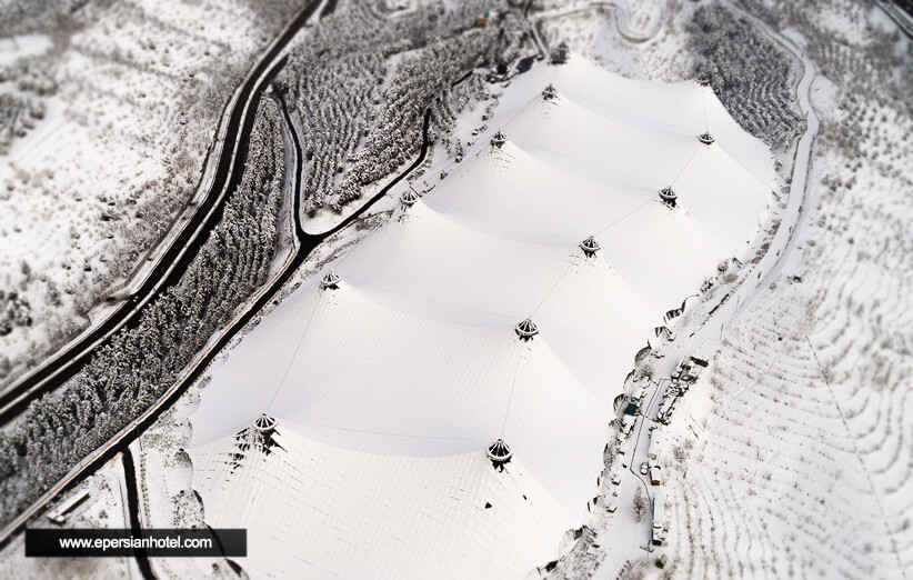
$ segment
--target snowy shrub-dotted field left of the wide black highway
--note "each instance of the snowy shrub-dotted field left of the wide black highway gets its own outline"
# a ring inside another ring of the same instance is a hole
[[[0,382],[88,324],[174,226],[272,32],[240,0],[139,0],[0,40],[0,92],[42,110],[0,156],[0,289],[29,317],[0,336]]]

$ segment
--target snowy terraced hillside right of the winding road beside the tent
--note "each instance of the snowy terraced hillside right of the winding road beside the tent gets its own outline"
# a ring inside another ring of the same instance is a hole
[[[665,450],[670,558],[680,577],[904,578],[913,123],[896,72],[911,44],[871,2],[749,4],[803,34],[823,122],[796,251],[728,332]]]

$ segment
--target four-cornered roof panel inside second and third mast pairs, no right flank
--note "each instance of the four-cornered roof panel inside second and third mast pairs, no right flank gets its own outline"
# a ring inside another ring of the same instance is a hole
[[[516,323],[564,272],[576,244],[496,238],[417,203],[359,243],[339,266],[347,280],[411,299],[423,313],[451,306],[462,322]]]

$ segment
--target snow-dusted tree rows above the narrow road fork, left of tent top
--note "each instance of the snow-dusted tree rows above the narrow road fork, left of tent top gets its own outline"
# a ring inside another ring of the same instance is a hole
[[[459,74],[496,58],[504,29],[520,26],[508,18],[475,28],[489,8],[475,0],[448,10],[439,1],[385,19],[357,6],[304,39],[288,82],[307,142],[309,214],[340,210],[418,151],[424,109]]]

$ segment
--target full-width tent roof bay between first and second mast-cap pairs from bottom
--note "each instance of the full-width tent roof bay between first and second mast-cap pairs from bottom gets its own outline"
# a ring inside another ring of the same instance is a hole
[[[293,352],[277,357],[269,334],[250,337],[237,349],[255,351],[257,367],[282,370],[280,379],[251,372],[247,357],[229,359],[214,376],[220,389],[202,394],[198,422],[203,427],[194,430],[194,444],[233,436],[239,424],[247,428],[267,413],[285,430],[361,451],[468,452],[500,436],[511,402],[541,399],[558,387],[568,401],[578,392],[579,404],[565,408],[566,413],[553,410],[556,429],[562,416],[579,424],[591,417],[599,428],[608,421],[605,408],[548,348],[539,348],[535,357],[526,353],[529,344],[519,340],[513,324],[424,319],[381,306],[345,283],[310,293],[317,300],[302,301],[304,308],[291,313],[308,321]],[[245,397],[251,392],[257,402]],[[239,406],[239,399],[247,404]],[[524,423],[523,416],[511,424],[516,442],[531,448],[556,437]]]

